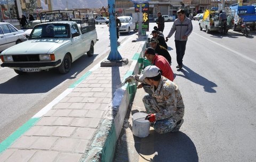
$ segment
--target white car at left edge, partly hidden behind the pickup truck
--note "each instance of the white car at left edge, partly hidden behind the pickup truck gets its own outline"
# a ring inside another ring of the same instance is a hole
[[[10,23],[0,22],[0,52],[26,40],[23,30],[18,30]]]

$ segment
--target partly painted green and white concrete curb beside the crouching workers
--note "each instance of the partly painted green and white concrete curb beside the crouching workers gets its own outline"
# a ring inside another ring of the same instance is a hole
[[[147,37],[143,39],[147,39]],[[140,53],[134,54],[129,71],[126,72],[124,78],[139,73],[142,64],[138,60],[142,58],[146,49],[146,40],[140,48]],[[81,161],[113,161],[116,142],[123,127],[126,111],[129,107],[130,100],[134,98],[135,94],[127,84],[118,88],[115,93],[117,91],[119,91],[118,95],[122,95],[121,102],[115,106],[109,106],[105,118],[100,122],[101,125],[99,126],[98,133],[94,135],[94,139],[89,144],[89,148],[85,152],[85,157]]]

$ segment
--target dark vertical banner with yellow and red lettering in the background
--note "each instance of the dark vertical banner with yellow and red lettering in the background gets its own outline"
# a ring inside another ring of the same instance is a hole
[[[149,31],[149,3],[143,3],[143,4],[135,4],[134,3],[134,9],[135,12],[140,12],[140,5],[142,5],[142,30]],[[139,29],[138,22],[135,23],[136,28],[135,30]]]

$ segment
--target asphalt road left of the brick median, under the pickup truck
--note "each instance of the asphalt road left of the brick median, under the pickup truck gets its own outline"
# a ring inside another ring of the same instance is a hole
[[[53,69],[18,75],[13,69],[0,68],[0,142],[109,54],[109,29],[103,24],[96,28],[99,41],[94,46],[94,55],[85,54],[76,60],[68,74],[61,75]],[[127,36],[121,35],[118,41]]]

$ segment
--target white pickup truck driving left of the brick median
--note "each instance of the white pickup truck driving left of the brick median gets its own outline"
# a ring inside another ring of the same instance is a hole
[[[82,29],[82,30],[81,30]],[[92,56],[97,42],[95,25],[78,27],[74,21],[52,21],[36,25],[26,42],[7,48],[1,53],[1,67],[14,69],[17,74],[58,68],[66,74],[74,62],[86,52]]]

